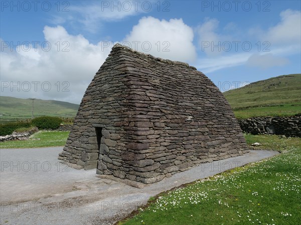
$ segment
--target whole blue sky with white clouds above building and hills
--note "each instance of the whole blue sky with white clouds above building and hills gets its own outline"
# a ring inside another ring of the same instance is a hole
[[[1,96],[79,104],[116,43],[189,63],[222,92],[301,73],[301,1],[0,4]]]

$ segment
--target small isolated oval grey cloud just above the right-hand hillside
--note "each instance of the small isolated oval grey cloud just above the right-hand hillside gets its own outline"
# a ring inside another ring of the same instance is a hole
[[[261,69],[267,69],[270,67],[284,66],[288,63],[289,61],[287,59],[268,53],[264,55],[254,54],[250,56],[250,58],[246,62],[246,65],[260,67]]]

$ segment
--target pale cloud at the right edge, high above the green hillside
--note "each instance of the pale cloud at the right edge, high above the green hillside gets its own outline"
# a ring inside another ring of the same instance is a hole
[[[299,44],[301,40],[301,12],[285,10],[280,13],[281,21],[262,35],[262,40],[272,44]]]

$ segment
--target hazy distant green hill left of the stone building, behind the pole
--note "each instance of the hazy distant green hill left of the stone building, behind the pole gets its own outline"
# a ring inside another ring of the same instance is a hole
[[[34,100],[34,116],[75,117],[79,105],[54,100]],[[0,96],[0,122],[24,120],[32,116],[32,100]]]

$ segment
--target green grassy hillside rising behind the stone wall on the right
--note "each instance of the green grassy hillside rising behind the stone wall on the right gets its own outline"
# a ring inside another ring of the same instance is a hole
[[[273,77],[223,93],[237,118],[301,113],[301,74]]]

